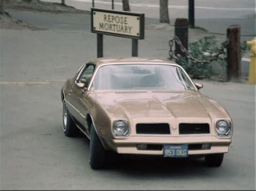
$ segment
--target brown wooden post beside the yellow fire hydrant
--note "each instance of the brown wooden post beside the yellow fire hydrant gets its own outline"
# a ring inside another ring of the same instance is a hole
[[[241,79],[240,26],[227,28],[227,80],[239,82]]]

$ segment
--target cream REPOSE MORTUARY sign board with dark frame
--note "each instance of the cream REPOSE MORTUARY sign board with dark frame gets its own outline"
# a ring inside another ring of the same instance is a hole
[[[91,8],[91,32],[144,39],[144,14]]]

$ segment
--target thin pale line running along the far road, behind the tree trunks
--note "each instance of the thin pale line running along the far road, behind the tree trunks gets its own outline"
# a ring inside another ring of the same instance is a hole
[[[92,3],[92,0],[74,0],[77,2],[84,2],[84,3]],[[107,4],[111,5],[111,2],[105,1],[95,1],[95,3],[99,4]],[[122,5],[121,2],[114,2],[114,5]],[[130,3],[130,6],[137,6],[137,7],[145,7],[145,8],[159,8],[158,4],[145,4],[145,3]],[[168,8],[176,8],[176,9],[187,9],[188,6],[185,5],[169,5]],[[255,8],[214,8],[208,6],[195,6],[195,9],[205,9],[205,10],[232,10],[232,11],[255,11]]]

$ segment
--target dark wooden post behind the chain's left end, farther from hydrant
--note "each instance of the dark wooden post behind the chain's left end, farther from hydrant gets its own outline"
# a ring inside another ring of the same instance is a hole
[[[175,36],[177,36],[183,46],[188,49],[188,20],[186,18],[177,18],[175,21]],[[179,45],[175,43],[175,54],[185,56]]]

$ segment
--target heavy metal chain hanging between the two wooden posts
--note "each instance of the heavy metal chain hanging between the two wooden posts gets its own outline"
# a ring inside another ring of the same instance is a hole
[[[196,63],[201,63],[201,64],[205,64],[205,63],[211,63],[213,60],[217,60],[219,58],[219,55],[224,54],[225,53],[225,48],[228,45],[228,40],[226,40],[224,42],[224,46],[219,50],[219,52],[217,54],[215,54],[214,56],[212,56],[212,58],[208,59],[208,60],[198,60],[196,58],[194,58],[190,52],[187,51],[187,49],[183,46],[183,44],[181,43],[180,39],[177,36],[174,36],[174,38],[172,40],[169,41],[169,46],[170,46],[170,51],[169,51],[169,55],[170,55],[170,59],[174,58],[180,58],[181,55],[175,55],[174,51],[173,51],[173,44],[174,42],[176,42],[178,44],[178,46],[180,47],[181,52],[183,52],[186,56],[187,59],[191,59],[193,62]]]

